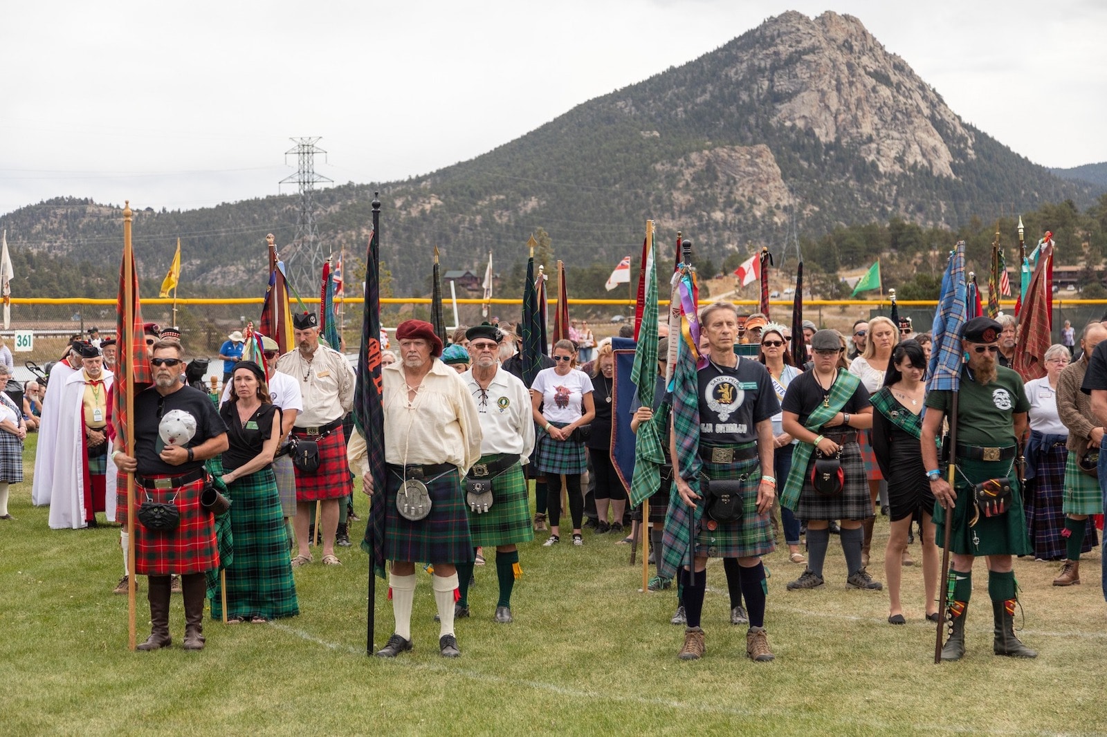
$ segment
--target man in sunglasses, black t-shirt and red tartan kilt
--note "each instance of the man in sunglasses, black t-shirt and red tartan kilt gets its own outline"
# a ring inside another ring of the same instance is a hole
[[[173,642],[170,574],[180,575],[184,590],[185,650],[203,650],[204,573],[218,568],[219,551],[215,518],[200,505],[200,491],[207,479],[204,461],[227,449],[227,428],[207,394],[180,382],[185,373],[180,343],[162,340],[152,349],[154,386],[135,397],[135,455],[113,456],[121,471],[135,474],[139,516],[135,573],[148,577],[151,619],[151,635],[138,650],[168,647]],[[179,522],[173,529],[147,528],[142,523],[142,507],[147,504],[173,505]],[[125,498],[118,509],[125,518]]]

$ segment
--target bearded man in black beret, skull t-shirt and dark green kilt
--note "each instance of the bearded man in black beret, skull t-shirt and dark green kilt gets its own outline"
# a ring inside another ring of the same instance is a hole
[[[942,438],[942,421],[952,409],[953,392],[927,395],[922,421],[922,463],[934,508],[937,539],[944,540],[952,525],[950,567],[952,595],[948,616],[951,634],[942,647],[943,661],[959,661],[965,652],[965,616],[972,593],[972,567],[977,556],[987,558],[987,592],[992,599],[996,655],[1036,657],[1037,653],[1015,636],[1017,602],[1012,557],[1031,552],[1023,518],[1022,494],[1015,461],[1026,433],[1030,401],[1022,377],[997,365],[1003,325],[991,318],[973,318],[962,332],[962,350],[969,361],[961,369],[958,390],[956,466],[954,486],[948,482],[938,460],[934,440]]]

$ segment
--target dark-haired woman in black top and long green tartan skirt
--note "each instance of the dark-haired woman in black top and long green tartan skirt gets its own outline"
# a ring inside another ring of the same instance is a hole
[[[265,371],[252,361],[235,364],[231,382],[230,398],[219,408],[229,443],[221,480],[231,501],[235,541],[234,560],[227,567],[227,621],[260,624],[300,613],[272,470],[281,411],[269,396]],[[221,604],[214,599],[211,616],[221,615]]]

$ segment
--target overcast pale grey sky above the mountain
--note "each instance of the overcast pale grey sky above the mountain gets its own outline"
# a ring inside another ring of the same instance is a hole
[[[1107,2],[87,0],[0,9],[0,215],[44,198],[194,209],[317,172],[387,181],[478,156],[786,10],[857,15],[1031,160],[1107,160]]]

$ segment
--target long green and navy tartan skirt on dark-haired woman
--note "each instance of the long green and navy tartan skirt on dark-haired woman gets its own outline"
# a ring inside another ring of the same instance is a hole
[[[235,479],[227,496],[235,541],[235,558],[227,567],[227,616],[296,616],[300,606],[272,470]],[[211,616],[223,617],[219,600],[211,602]]]

